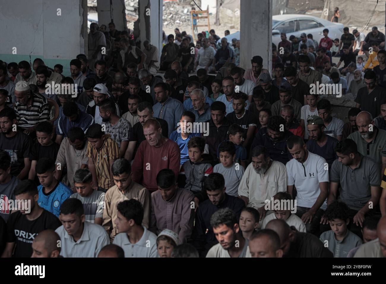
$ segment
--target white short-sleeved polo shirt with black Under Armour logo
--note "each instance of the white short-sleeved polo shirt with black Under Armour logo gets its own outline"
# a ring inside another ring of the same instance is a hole
[[[326,160],[308,151],[307,160],[302,164],[295,159],[289,160],[287,168],[287,185],[296,187],[296,205],[311,208],[320,194],[320,182],[329,182]],[[327,170],[325,170],[327,168]],[[321,209],[327,208],[326,201]]]

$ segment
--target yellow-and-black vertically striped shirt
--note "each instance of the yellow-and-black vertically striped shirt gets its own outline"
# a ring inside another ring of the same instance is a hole
[[[111,139],[110,134],[104,135],[103,139],[104,143],[99,150],[91,146],[91,143],[88,142],[85,156],[91,158],[95,164],[98,186],[103,189],[109,189],[114,185],[110,178],[109,161],[119,158],[119,147],[117,142]]]

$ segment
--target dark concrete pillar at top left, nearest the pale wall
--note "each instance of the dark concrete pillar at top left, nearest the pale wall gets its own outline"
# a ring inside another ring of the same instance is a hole
[[[107,31],[108,23],[111,19],[114,20],[115,28],[118,31],[125,31],[126,27],[126,13],[124,0],[98,0],[98,25],[106,25]]]

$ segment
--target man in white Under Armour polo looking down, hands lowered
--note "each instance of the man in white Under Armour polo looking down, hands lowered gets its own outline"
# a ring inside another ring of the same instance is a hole
[[[296,216],[306,225],[306,232],[319,236],[320,219],[327,209],[328,170],[326,160],[307,150],[303,139],[292,136],[287,148],[293,159],[286,164],[287,191],[296,187]]]

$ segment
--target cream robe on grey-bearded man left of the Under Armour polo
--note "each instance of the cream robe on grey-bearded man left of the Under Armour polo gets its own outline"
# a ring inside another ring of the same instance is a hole
[[[271,167],[263,175],[255,172],[249,164],[239,185],[239,196],[249,198],[248,207],[259,209],[267,199],[271,201],[278,192],[287,191],[287,170],[283,163],[273,161]]]

